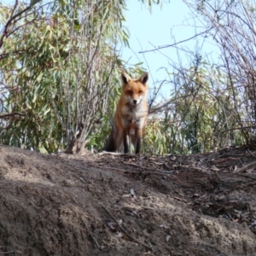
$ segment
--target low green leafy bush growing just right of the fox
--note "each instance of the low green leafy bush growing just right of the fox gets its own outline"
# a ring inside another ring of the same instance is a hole
[[[171,77],[171,98],[149,118],[144,152],[196,154],[246,142],[234,111],[233,95],[237,105],[241,96],[225,73],[204,63],[181,67]]]

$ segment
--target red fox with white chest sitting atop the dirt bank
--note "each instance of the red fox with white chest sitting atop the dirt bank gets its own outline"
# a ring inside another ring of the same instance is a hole
[[[113,118],[113,128],[104,150],[119,151],[124,146],[125,154],[129,152],[129,141],[135,148],[135,153],[141,150],[143,128],[148,119],[148,73],[143,73],[139,79],[131,79],[121,74],[122,94],[119,98]]]

